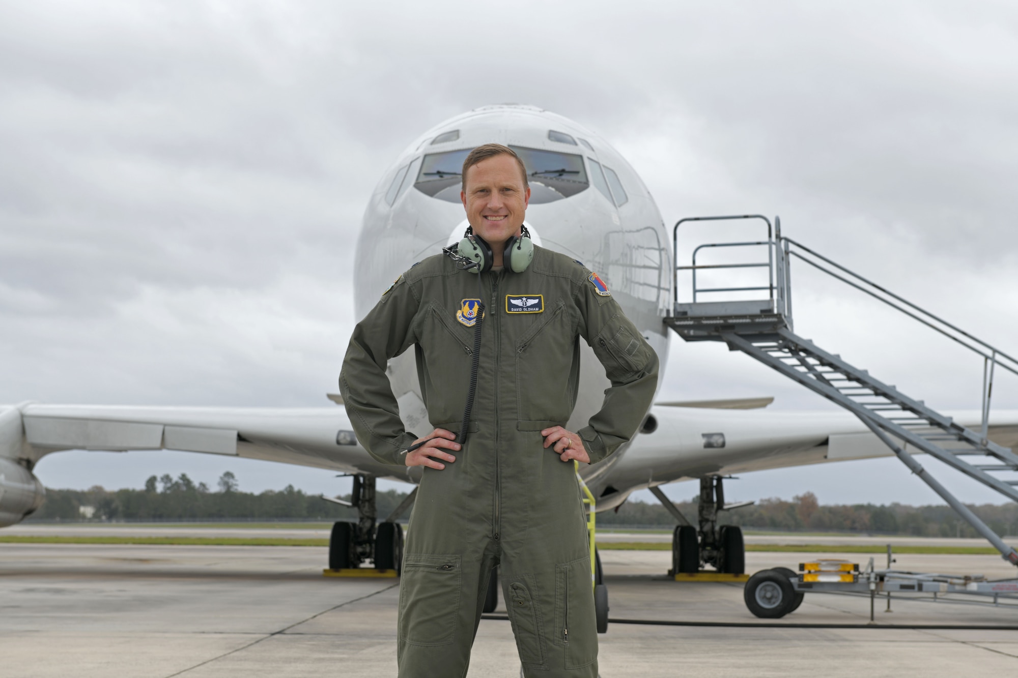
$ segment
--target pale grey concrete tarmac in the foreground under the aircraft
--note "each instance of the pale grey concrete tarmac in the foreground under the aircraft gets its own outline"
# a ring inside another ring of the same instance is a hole
[[[325,553],[303,547],[0,544],[0,675],[394,676],[395,581],[324,578]],[[816,556],[749,553],[747,570],[794,568]],[[898,558],[902,569],[1015,576],[995,556]],[[613,618],[760,621],[746,610],[741,585],[666,580],[661,575],[669,559],[668,552],[602,553]],[[1018,627],[1015,608],[894,600],[888,614],[883,601],[878,605],[880,624]],[[779,621],[860,626],[615,623],[601,636],[601,675],[1018,674],[1018,631],[866,628],[868,615],[866,599],[811,594]],[[519,675],[508,622],[482,621],[468,675]]]

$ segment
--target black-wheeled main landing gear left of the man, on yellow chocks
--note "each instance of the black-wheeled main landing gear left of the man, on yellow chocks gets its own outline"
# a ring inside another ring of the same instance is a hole
[[[350,501],[323,497],[326,501],[357,509],[357,522],[341,520],[333,523],[329,538],[329,569],[348,570],[359,568],[373,561],[376,570],[403,568],[403,528],[396,522],[413,503],[417,489],[381,523],[376,524],[378,507],[375,497],[375,477],[357,473],[353,476]]]

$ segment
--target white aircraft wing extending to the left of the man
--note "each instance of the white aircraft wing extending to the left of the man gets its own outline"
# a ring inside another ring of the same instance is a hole
[[[412,414],[415,403],[405,404]],[[3,450],[4,456],[25,458],[33,465],[61,450],[181,450],[409,479],[405,470],[380,464],[367,454],[342,407],[22,404],[14,409],[20,411],[21,449],[13,455]]]

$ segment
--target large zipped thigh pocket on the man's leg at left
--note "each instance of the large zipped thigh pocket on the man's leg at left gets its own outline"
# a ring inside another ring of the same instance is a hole
[[[400,642],[451,643],[462,583],[459,556],[406,554],[399,582]]]

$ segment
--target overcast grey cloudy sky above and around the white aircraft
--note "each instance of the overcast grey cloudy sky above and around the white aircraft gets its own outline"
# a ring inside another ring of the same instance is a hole
[[[371,190],[428,127],[505,102],[602,134],[666,223],[780,214],[1018,350],[1016,83],[1008,2],[0,3],[0,402],[327,404]],[[796,274],[801,334],[929,404],[978,408],[976,359]],[[830,407],[677,339],[662,395]],[[995,398],[1018,408],[1018,379]],[[245,490],[347,491],[168,452],[54,454],[37,472],[119,488],[226,469]],[[748,473],[728,494],[805,491],[937,501],[893,459]]]

